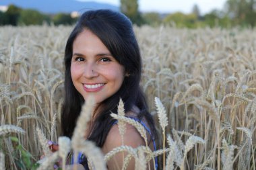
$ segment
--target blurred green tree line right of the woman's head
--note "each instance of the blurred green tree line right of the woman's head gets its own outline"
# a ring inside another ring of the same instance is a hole
[[[223,9],[215,9],[201,15],[199,7],[194,5],[191,13],[181,12],[160,14],[156,12],[139,13],[137,0],[121,0],[121,11],[131,18],[138,26],[148,24],[172,25],[177,28],[222,27],[234,26],[251,27],[256,24],[256,0],[227,0]]]

